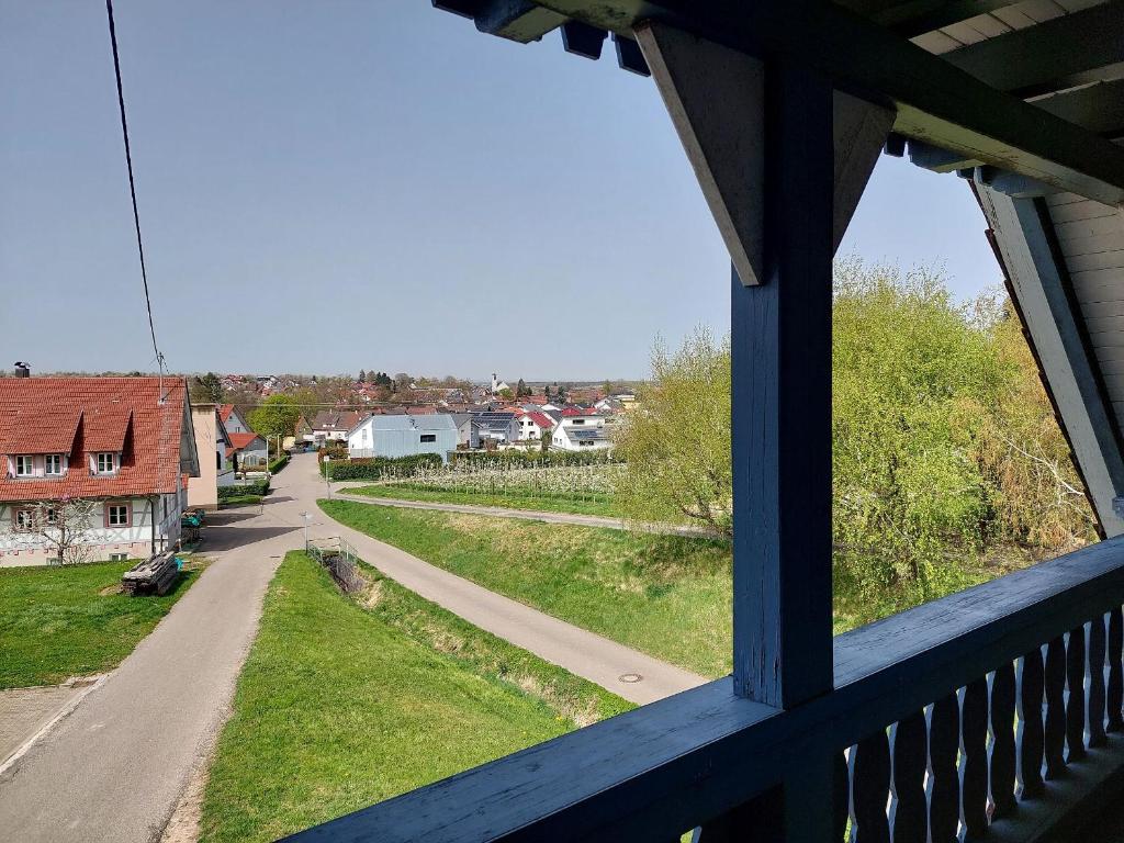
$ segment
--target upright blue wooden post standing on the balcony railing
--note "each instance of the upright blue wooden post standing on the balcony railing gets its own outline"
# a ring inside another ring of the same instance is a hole
[[[832,88],[769,63],[763,283],[731,301],[734,689],[832,688]]]

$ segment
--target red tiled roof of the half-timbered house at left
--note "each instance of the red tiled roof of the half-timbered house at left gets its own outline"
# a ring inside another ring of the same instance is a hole
[[[64,453],[61,478],[0,475],[0,501],[111,498],[176,490],[187,383],[182,378],[0,379],[0,454]],[[62,443],[70,439],[67,445]],[[39,450],[49,446],[48,450]],[[88,454],[123,451],[111,475],[91,475]]]

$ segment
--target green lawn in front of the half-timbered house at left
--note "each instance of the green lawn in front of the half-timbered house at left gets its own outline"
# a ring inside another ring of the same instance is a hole
[[[55,685],[115,668],[199,575],[184,571],[163,597],[111,593],[132,565],[0,569],[0,688]]]

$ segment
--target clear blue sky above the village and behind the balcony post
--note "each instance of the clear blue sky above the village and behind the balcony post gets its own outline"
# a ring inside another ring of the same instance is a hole
[[[180,371],[634,378],[728,325],[651,80],[428,0],[118,0],[156,332]],[[0,0],[0,366],[152,369],[100,2]],[[968,189],[882,158],[843,246],[999,273]]]

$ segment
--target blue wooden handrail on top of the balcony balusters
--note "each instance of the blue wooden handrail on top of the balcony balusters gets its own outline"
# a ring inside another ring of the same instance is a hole
[[[1115,538],[837,636],[835,689],[799,707],[722,679],[288,840],[673,840],[1122,604]]]

